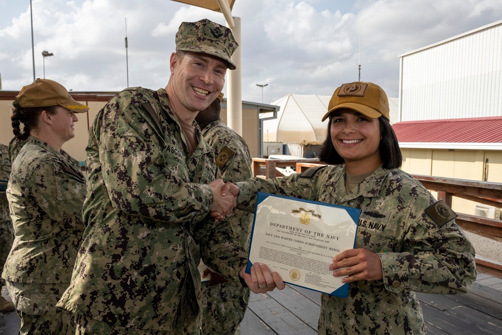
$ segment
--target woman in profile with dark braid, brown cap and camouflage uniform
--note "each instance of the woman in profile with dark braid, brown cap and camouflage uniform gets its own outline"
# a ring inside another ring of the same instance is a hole
[[[70,283],[84,230],[85,179],[61,146],[75,136],[75,113],[89,108],[48,79],[23,87],[13,105],[7,198],[15,240],[2,276],[21,334],[74,334],[71,313],[56,303]]]

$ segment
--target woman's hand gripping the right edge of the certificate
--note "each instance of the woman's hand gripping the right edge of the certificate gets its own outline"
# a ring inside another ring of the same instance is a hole
[[[366,249],[345,250],[335,257],[329,265],[334,277],[348,276],[342,279],[342,283],[350,283],[357,280],[382,280],[382,261],[375,253]]]

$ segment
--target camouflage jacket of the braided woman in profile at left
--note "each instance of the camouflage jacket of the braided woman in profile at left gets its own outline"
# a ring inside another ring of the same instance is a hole
[[[84,196],[78,161],[30,136],[12,163],[7,187],[15,239],[6,280],[70,282],[84,230]]]

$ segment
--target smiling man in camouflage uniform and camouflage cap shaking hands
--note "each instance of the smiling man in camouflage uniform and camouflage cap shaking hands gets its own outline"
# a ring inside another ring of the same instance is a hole
[[[231,227],[208,216],[229,214],[234,198],[220,195],[221,180],[207,185],[217,168],[194,122],[235,69],[235,48],[228,28],[184,22],[166,88],[125,89],[96,116],[86,149],[87,227],[58,303],[76,314],[77,334],[200,333],[201,257],[225,279],[242,285],[240,275],[266,292],[244,275],[246,254]]]

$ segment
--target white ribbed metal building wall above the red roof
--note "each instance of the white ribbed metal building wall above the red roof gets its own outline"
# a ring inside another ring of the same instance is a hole
[[[502,116],[502,20],[400,60],[399,121]]]

